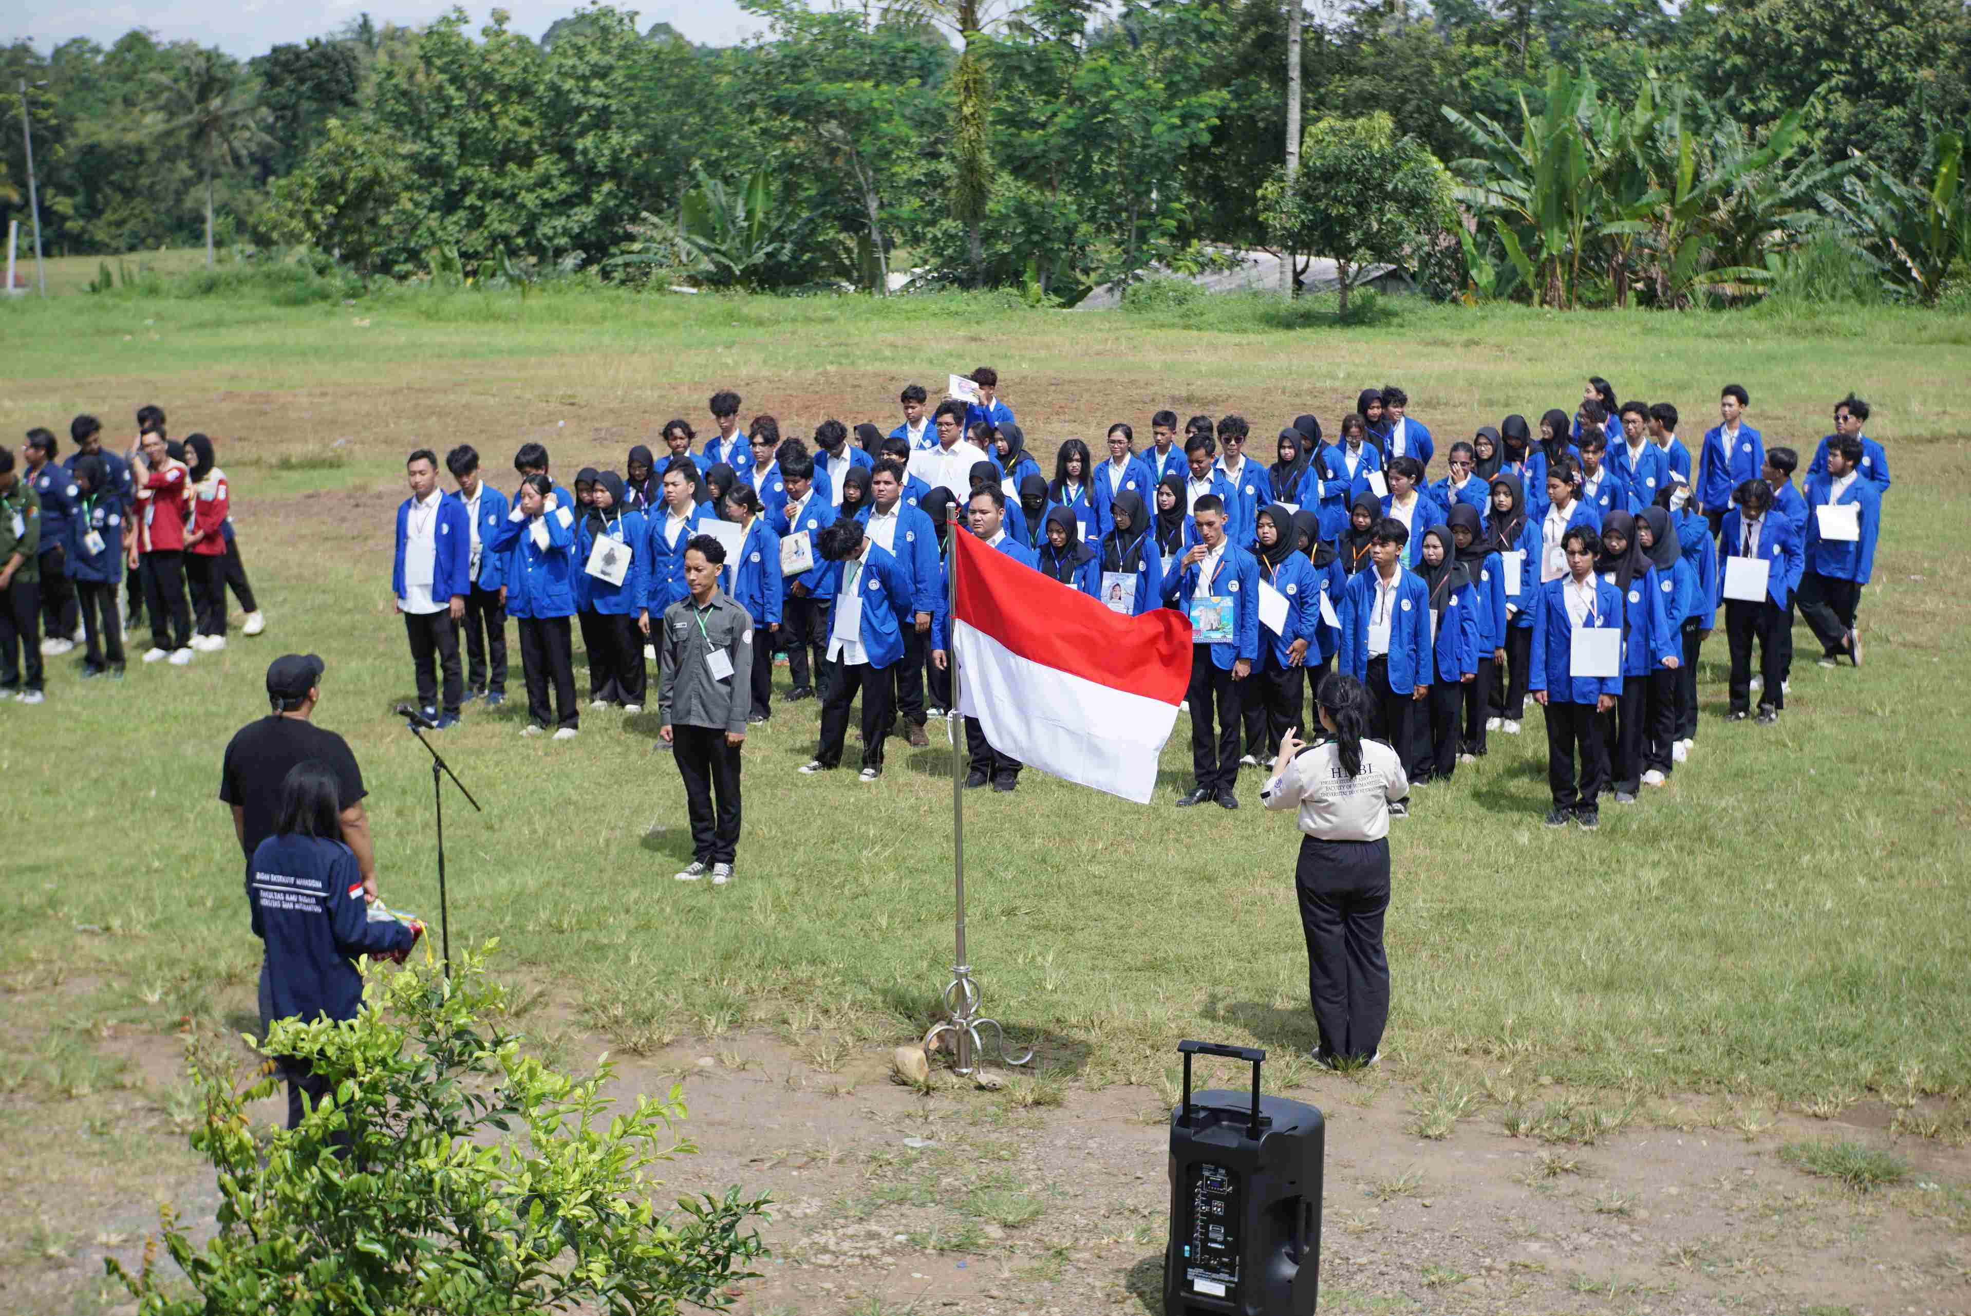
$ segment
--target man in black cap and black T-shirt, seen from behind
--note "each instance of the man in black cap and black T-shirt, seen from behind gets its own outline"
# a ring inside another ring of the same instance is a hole
[[[376,853],[371,849],[369,814],[363,810],[363,770],[349,743],[309,721],[321,701],[321,658],[315,654],[282,654],[266,668],[268,715],[240,727],[227,743],[225,766],[219,772],[219,798],[233,806],[233,831],[240,853],[252,863],[252,851],[274,833],[280,822],[280,786],[288,770],[309,758],[323,762],[335,774],[341,806],[343,845],[355,851],[363,873],[363,892],[376,898]],[[252,873],[244,875],[252,881]],[[260,969],[260,1019],[268,1019],[266,967]]]

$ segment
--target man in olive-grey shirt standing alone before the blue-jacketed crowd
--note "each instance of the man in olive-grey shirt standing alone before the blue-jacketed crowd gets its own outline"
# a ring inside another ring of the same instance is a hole
[[[739,747],[753,709],[753,619],[719,591],[725,546],[710,534],[684,546],[690,597],[664,609],[656,715],[678,760],[692,812],[692,865],[676,875],[714,887],[733,877],[739,849]],[[712,794],[717,790],[714,818]]]

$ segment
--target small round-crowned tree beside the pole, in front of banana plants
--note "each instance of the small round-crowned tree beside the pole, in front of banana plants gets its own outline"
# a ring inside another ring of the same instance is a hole
[[[1259,213],[1283,250],[1334,260],[1340,313],[1366,264],[1407,264],[1445,229],[1451,187],[1437,160],[1388,114],[1323,118],[1303,134],[1301,169],[1279,169],[1259,193]]]

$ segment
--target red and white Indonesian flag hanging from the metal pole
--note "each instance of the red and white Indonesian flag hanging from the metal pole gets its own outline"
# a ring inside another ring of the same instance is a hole
[[[1003,755],[1149,804],[1190,682],[1190,621],[1112,613],[978,536],[952,540],[958,711]]]

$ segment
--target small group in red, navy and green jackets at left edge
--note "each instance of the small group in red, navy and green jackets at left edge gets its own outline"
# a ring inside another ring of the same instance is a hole
[[[43,658],[83,650],[81,678],[120,680],[124,640],[150,619],[144,662],[185,666],[227,646],[227,591],[244,632],[266,619],[246,581],[233,502],[213,441],[183,443],[156,406],[136,414],[122,455],[102,422],[69,422],[75,451],[30,429],[20,457],[0,447],[0,695],[41,703]]]

